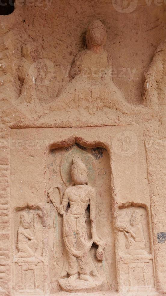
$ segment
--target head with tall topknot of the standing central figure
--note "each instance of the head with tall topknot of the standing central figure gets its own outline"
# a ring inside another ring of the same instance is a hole
[[[73,157],[71,175],[76,185],[88,184],[88,170],[78,155]]]

